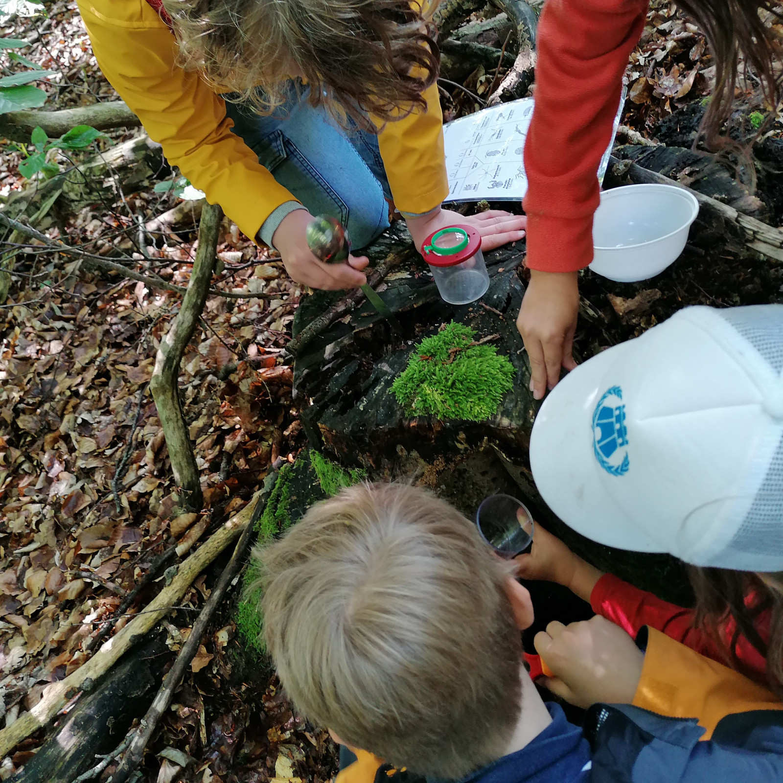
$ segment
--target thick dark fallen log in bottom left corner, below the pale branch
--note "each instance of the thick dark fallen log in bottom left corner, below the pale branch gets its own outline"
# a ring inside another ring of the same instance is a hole
[[[171,660],[160,635],[128,651],[98,680],[16,775],[16,783],[71,783],[121,742],[153,700]],[[86,688],[85,688],[86,691]]]

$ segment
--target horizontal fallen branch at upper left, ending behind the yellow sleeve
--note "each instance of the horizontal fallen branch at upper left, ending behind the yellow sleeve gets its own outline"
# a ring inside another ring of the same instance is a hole
[[[93,103],[78,109],[60,111],[9,111],[0,114],[0,136],[15,142],[30,143],[30,134],[40,125],[49,139],[58,139],[77,125],[91,125],[99,131],[114,128],[139,128],[141,120],[128,109],[124,101]]]

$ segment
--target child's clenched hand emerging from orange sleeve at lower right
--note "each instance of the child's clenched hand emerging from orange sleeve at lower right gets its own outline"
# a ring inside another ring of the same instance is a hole
[[[644,653],[610,620],[596,615],[586,622],[550,622],[536,633],[536,651],[554,673],[536,683],[577,707],[597,702],[630,704],[644,666]]]

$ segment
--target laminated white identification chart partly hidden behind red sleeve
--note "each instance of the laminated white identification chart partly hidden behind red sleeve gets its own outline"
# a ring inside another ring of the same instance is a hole
[[[609,153],[625,103],[623,88],[612,128],[612,141],[601,159],[603,182]],[[519,201],[528,189],[522,150],[528,135],[534,100],[522,98],[482,109],[443,126],[449,195],[446,201]]]

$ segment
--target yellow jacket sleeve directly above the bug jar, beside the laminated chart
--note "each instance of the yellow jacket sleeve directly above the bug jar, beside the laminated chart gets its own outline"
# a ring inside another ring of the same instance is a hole
[[[424,91],[424,99],[426,110],[414,109],[401,120],[383,124],[371,117],[380,129],[378,147],[395,207],[404,215],[423,215],[449,195],[437,84]]]

